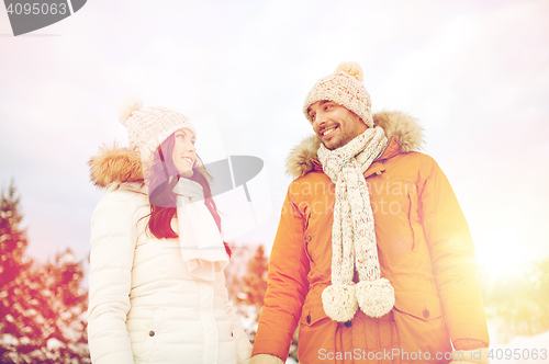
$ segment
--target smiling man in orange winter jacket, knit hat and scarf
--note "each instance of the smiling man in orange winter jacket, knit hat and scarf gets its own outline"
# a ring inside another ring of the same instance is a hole
[[[362,70],[339,65],[309,93],[316,135],[290,184],[251,363],[488,363],[467,221],[446,177],[414,151],[407,114],[371,114]]]

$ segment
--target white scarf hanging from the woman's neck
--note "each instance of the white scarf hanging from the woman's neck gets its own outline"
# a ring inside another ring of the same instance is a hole
[[[217,225],[204,204],[200,183],[181,178],[177,194],[179,249],[189,273],[204,281],[215,281],[215,273],[228,263]]]

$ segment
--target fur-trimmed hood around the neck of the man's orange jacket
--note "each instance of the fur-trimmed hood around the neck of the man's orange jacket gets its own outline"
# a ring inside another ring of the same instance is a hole
[[[417,150],[423,144],[423,128],[412,115],[399,111],[381,111],[373,114],[373,124],[381,126],[390,140],[394,137],[401,152]],[[293,178],[311,172],[318,166],[316,155],[321,147],[321,139],[313,134],[303,139],[288,156],[287,171]]]

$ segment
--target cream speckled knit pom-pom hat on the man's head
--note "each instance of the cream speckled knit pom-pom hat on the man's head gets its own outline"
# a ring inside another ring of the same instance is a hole
[[[339,64],[333,75],[321,79],[309,92],[303,113],[311,122],[307,110],[317,101],[329,100],[352,111],[368,127],[373,127],[370,94],[366,91],[363,73],[355,61]]]

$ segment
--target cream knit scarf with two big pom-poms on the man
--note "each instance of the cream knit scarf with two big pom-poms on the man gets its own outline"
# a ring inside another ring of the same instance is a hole
[[[332,285],[322,293],[322,303],[326,315],[339,322],[351,320],[359,305],[370,317],[381,317],[394,305],[391,283],[380,277],[373,213],[363,177],[386,145],[385,134],[378,126],[335,150],[324,145],[318,149],[323,170],[336,185]],[[360,280],[356,285],[355,268]]]

